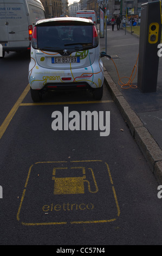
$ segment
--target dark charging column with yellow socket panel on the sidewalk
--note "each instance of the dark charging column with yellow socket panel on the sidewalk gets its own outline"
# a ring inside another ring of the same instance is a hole
[[[161,1],[141,5],[138,88],[142,93],[157,90],[161,23]]]

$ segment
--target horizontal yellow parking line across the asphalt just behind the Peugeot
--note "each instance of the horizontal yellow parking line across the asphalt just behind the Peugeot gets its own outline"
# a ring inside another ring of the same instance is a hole
[[[74,104],[89,104],[89,103],[112,103],[113,100],[101,101],[67,101],[67,102],[37,102],[37,103],[21,103],[20,106],[42,106],[42,105],[74,105]]]

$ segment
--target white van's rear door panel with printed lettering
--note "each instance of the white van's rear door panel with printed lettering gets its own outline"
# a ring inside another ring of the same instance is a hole
[[[8,0],[0,4],[1,33],[0,41],[6,41],[3,47],[28,47],[28,16],[25,3]]]

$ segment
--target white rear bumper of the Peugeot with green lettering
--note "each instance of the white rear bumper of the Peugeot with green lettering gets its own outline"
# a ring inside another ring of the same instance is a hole
[[[29,84],[32,89],[68,88],[87,86],[99,88],[103,84],[103,64],[94,62],[86,68],[80,69],[44,69],[33,58],[29,64]]]

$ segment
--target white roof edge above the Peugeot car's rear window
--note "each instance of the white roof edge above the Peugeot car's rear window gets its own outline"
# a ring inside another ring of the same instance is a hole
[[[58,17],[58,18],[50,18],[50,19],[43,19],[36,22],[37,24],[46,23],[46,22],[54,22],[54,21],[80,21],[80,22],[86,22],[86,23],[92,23],[94,22],[89,19],[85,18],[79,18],[79,17]]]

